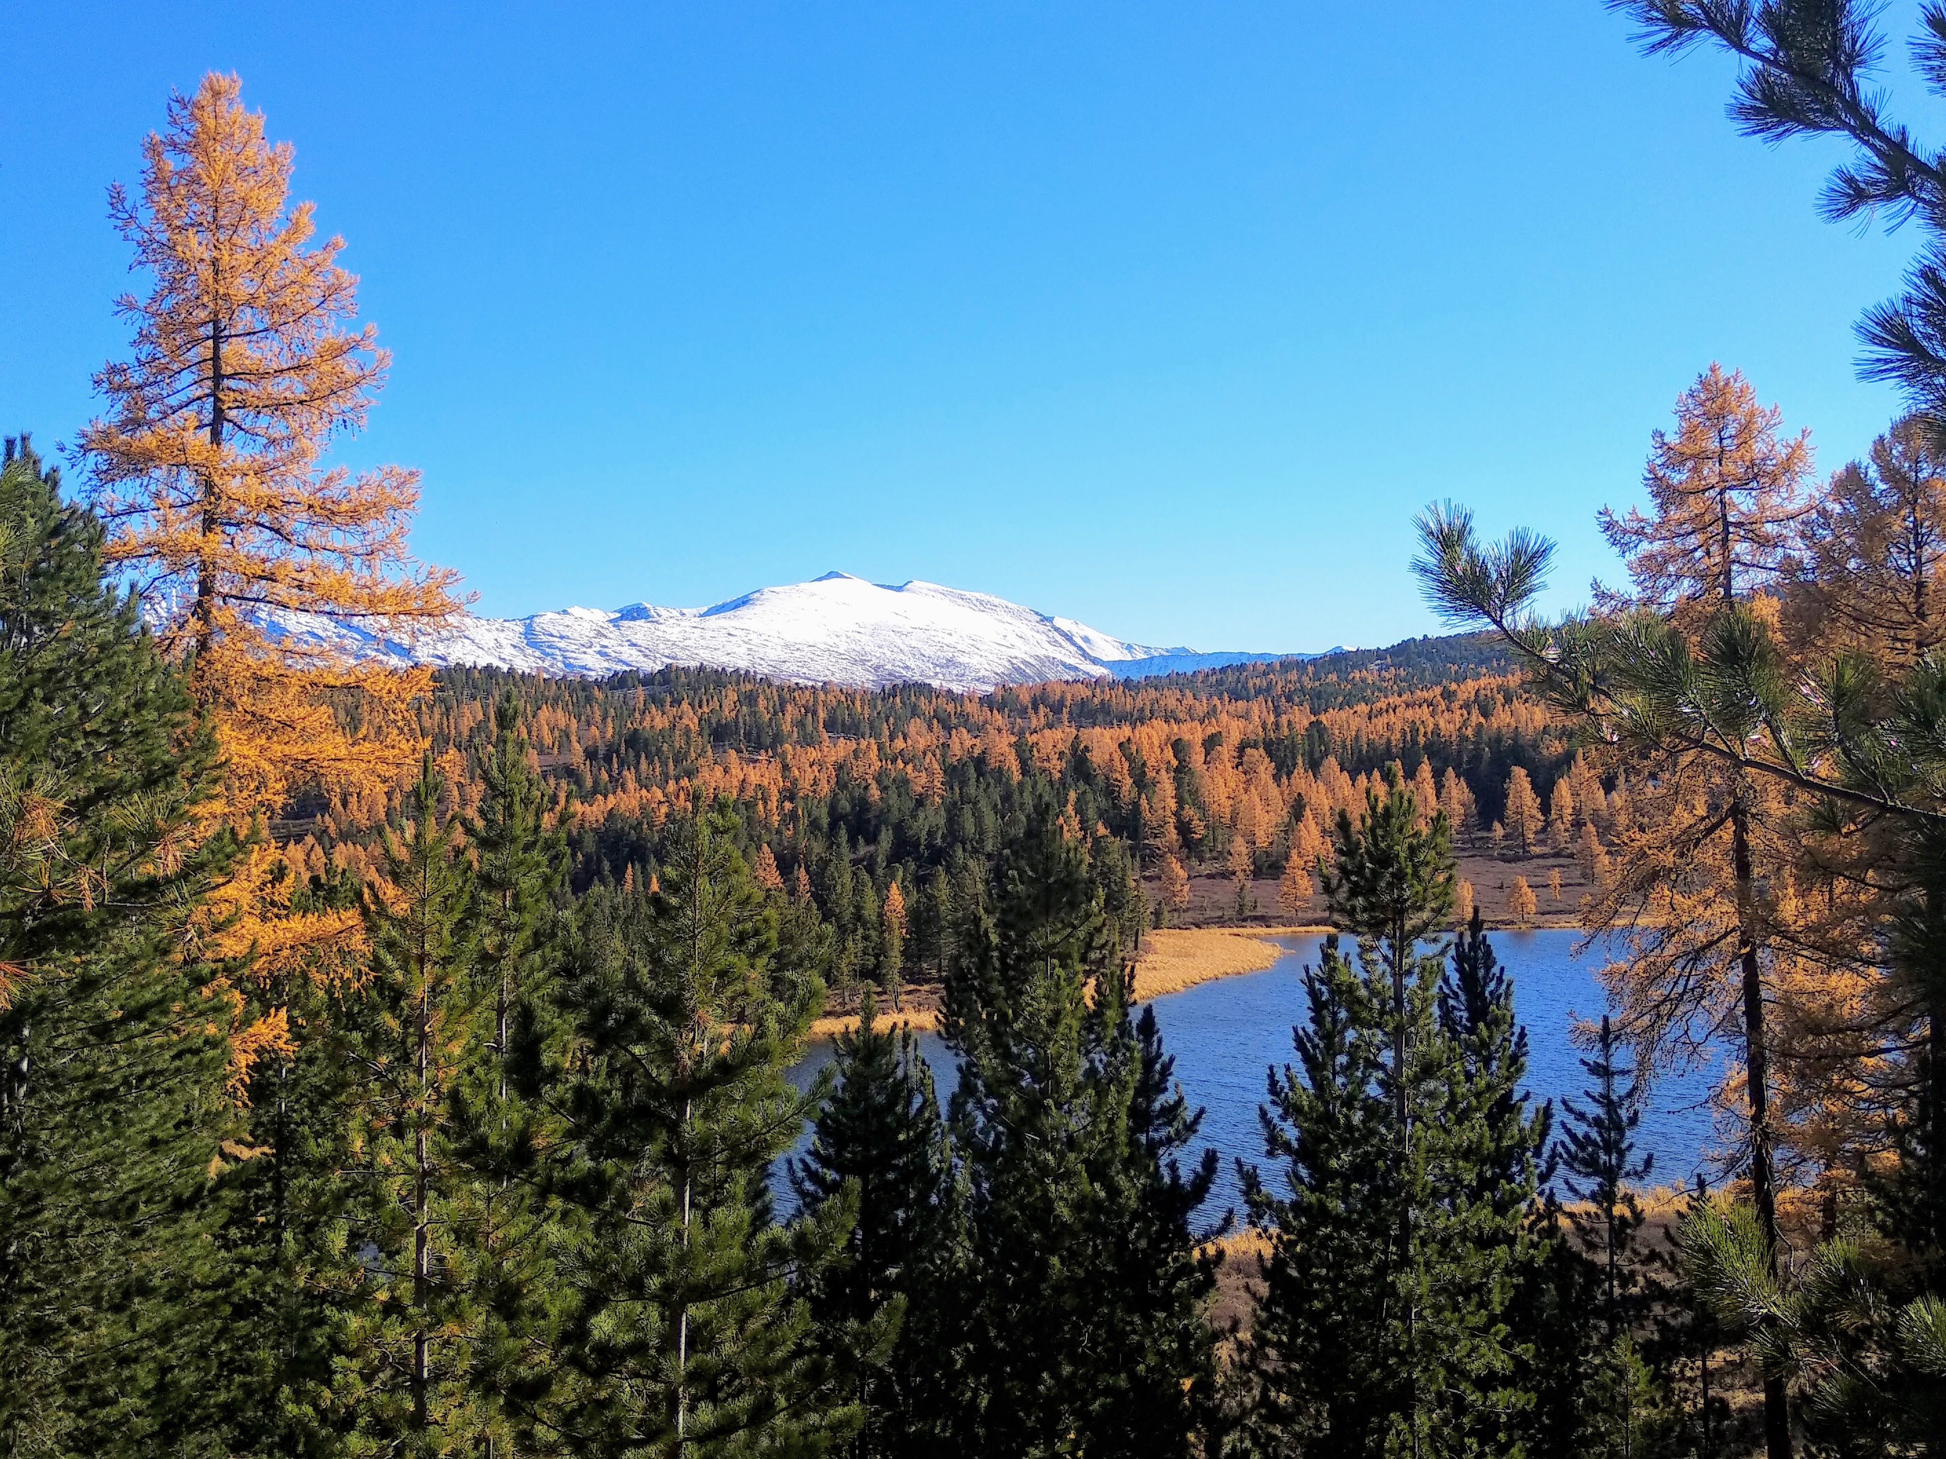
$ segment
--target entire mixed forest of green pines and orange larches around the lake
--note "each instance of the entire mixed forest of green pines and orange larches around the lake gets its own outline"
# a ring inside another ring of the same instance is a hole
[[[1868,14],[1623,8],[1946,235]],[[284,632],[461,611],[414,473],[331,459],[387,356],[290,167],[237,78],[169,101],[99,414],[0,467],[0,1451],[1938,1451],[1936,263],[1864,459],[1711,364],[1563,621],[1442,504],[1454,632],[1387,650],[539,679]],[[1607,963],[1563,1107],[1530,924]],[[1236,1212],[1138,1002],[1201,926],[1333,930]],[[1703,1043],[1732,1148],[1650,1191]]]

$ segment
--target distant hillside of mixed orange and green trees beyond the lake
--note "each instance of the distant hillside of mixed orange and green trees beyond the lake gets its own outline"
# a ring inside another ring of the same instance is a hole
[[[1308,881],[1333,817],[1356,813],[1386,766],[1483,856],[1526,856],[1549,833],[1551,850],[1570,852],[1580,827],[1607,821],[1600,776],[1572,765],[1567,737],[1479,638],[985,696],[691,669],[599,683],[446,669],[422,724],[461,809],[504,694],[523,706],[576,887],[646,881],[666,829],[726,796],[765,868],[792,885],[802,875],[847,928],[860,969],[882,969],[874,928],[895,883],[905,907],[920,905],[1041,803],[1076,835],[1117,842],[1109,854],[1138,872],[1162,918],[1187,908],[1193,877],[1253,887],[1296,866]],[[304,877],[366,870],[393,809],[383,794],[329,796],[282,823],[286,854]],[[1292,893],[1255,910],[1314,910],[1312,891]],[[936,973],[928,945],[920,936],[915,973]]]

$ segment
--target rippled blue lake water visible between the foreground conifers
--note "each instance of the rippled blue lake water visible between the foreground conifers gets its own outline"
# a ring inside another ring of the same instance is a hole
[[[1568,1035],[1576,1017],[1598,1019],[1605,1008],[1605,994],[1596,980],[1600,955],[1574,957],[1574,932],[1491,936],[1500,965],[1514,979],[1514,1008],[1528,1025],[1530,1091],[1537,1099],[1580,1099],[1588,1076],[1580,1066],[1582,1050]],[[1242,1202],[1234,1157],[1263,1163],[1257,1105],[1265,1099],[1265,1072],[1271,1064],[1294,1058],[1290,1027],[1304,1017],[1300,969],[1317,959],[1323,940],[1308,936],[1277,942],[1284,955],[1261,973],[1216,979],[1156,1000],[1164,1047],[1175,1056],[1175,1078],[1191,1105],[1205,1109],[1197,1154],[1203,1146],[1214,1146],[1222,1156],[1216,1189],[1203,1212],[1210,1222],[1226,1206]],[[952,1050],[934,1033],[922,1035],[920,1043],[944,1105],[955,1080]],[[829,1062],[831,1045],[821,1043],[792,1070],[792,1080],[798,1087],[808,1087]],[[1705,1068],[1662,1076],[1650,1087],[1637,1130],[1640,1148],[1656,1157],[1648,1185],[1689,1181],[1697,1169],[1711,1169],[1709,1156],[1716,1150],[1716,1140],[1705,1101],[1718,1078],[1720,1070]],[[1273,1179],[1269,1171],[1265,1177]]]

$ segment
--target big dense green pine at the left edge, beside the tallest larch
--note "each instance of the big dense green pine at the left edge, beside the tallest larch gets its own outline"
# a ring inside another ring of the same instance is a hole
[[[216,1451],[235,1161],[224,1041],[181,959],[234,846],[212,747],[101,580],[101,529],[0,457],[0,1451]]]

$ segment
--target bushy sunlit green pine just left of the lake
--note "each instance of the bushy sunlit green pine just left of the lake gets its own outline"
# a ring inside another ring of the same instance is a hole
[[[778,961],[734,835],[716,809],[654,897],[592,895],[562,982],[580,1052],[560,1181],[588,1229],[564,1259],[557,1422],[590,1459],[821,1453],[858,1426],[790,1288],[839,1259],[854,1204],[776,1224],[767,1185],[815,1103],[784,1072],[823,984]]]

